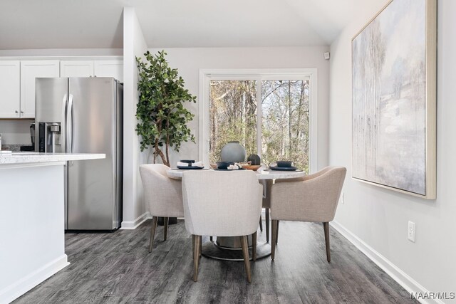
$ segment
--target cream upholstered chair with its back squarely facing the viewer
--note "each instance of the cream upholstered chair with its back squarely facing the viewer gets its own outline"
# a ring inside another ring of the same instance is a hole
[[[193,238],[193,281],[198,278],[201,236],[239,236],[247,272],[250,275],[247,236],[252,237],[252,253],[257,247],[258,218],[263,187],[253,171],[187,171],[182,174],[185,228]]]

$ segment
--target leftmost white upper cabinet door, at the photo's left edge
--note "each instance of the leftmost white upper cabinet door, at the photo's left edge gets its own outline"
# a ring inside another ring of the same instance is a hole
[[[20,61],[0,61],[0,118],[20,117],[20,96]]]

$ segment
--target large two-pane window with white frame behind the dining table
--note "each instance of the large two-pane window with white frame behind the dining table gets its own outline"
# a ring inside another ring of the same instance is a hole
[[[224,70],[200,73],[199,147],[205,163],[237,140],[269,164],[294,160],[312,172],[316,164],[316,70]]]

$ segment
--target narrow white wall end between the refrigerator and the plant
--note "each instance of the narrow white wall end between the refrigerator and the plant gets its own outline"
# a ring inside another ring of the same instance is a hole
[[[143,162],[136,135],[136,104],[138,103],[138,68],[135,56],[147,51],[135,9],[123,10],[123,229],[134,228],[142,221],[145,206],[139,165]]]

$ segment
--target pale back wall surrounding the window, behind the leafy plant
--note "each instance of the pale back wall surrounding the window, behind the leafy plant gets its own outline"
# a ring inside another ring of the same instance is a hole
[[[161,51],[151,48],[151,53]],[[172,68],[178,68],[185,87],[197,96],[197,103],[187,103],[195,114],[189,126],[198,142],[199,69],[217,68],[317,68],[318,69],[318,168],[328,164],[328,88],[329,62],[323,53],[327,46],[276,47],[276,48],[165,48]],[[180,155],[180,156],[179,156]],[[197,159],[198,145],[184,143],[177,154],[170,157],[171,164],[178,159]]]

